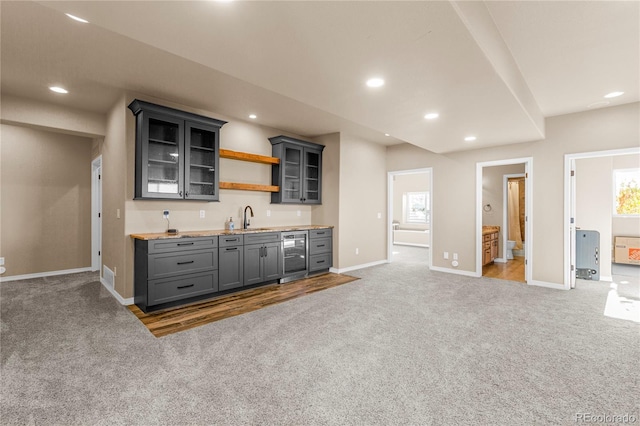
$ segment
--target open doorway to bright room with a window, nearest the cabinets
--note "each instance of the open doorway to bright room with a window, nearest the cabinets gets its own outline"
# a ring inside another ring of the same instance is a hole
[[[432,169],[388,174],[389,262],[431,265]]]

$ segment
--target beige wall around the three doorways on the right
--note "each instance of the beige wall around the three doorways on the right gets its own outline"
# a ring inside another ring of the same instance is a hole
[[[411,145],[387,149],[387,170],[433,167],[433,265],[451,268],[442,252],[460,255],[461,271],[476,273],[476,189],[478,162],[533,158],[533,280],[564,280],[564,155],[633,148],[640,141],[638,103],[549,117],[546,139],[446,155]]]

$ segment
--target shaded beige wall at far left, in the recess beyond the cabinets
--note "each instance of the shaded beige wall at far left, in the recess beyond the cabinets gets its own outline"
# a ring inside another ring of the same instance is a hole
[[[5,277],[91,266],[92,140],[0,125]]]

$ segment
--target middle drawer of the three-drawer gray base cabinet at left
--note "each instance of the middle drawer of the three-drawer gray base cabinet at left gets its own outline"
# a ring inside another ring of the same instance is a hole
[[[218,269],[218,249],[149,256],[149,279]]]

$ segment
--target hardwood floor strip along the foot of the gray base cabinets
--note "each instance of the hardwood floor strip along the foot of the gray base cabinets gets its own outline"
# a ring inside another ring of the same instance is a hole
[[[142,312],[136,305],[130,305],[128,308],[151,334],[155,337],[162,337],[253,312],[357,279],[349,275],[328,273],[290,283],[272,284],[240,291],[205,302],[148,314]]]

